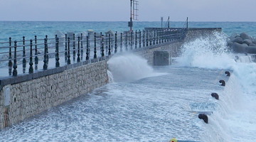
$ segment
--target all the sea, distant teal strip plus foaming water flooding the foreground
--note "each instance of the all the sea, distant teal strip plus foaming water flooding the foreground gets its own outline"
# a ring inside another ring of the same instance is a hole
[[[134,30],[145,27],[161,22],[134,23]],[[0,141],[255,142],[256,64],[250,55],[230,52],[227,41],[242,32],[255,38],[256,23],[188,22],[188,27],[223,31],[184,43],[168,66],[148,65],[134,53],[114,55],[107,62],[109,84],[0,130]],[[0,21],[0,40],[88,30],[129,28],[127,22]],[[202,113],[208,124],[198,119]]]

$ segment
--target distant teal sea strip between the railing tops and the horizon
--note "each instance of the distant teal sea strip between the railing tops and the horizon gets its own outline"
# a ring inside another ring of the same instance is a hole
[[[38,39],[54,38],[56,33],[85,33],[92,29],[97,33],[105,33],[112,30],[123,32],[129,31],[125,21],[117,22],[72,22],[72,21],[0,21],[0,42],[8,42],[9,37],[12,40],[22,40],[25,36],[27,40],[34,39],[37,35]],[[171,27],[182,28],[185,21],[173,21]],[[165,24],[164,24],[165,25]],[[134,21],[134,30],[142,30],[145,27],[161,27],[158,21]],[[223,28],[223,32],[231,35],[232,33],[246,32],[252,37],[256,37],[256,22],[188,22],[189,28]]]

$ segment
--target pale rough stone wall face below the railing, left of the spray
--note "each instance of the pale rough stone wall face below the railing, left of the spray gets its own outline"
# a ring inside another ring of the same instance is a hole
[[[4,107],[4,89],[1,89],[0,129],[86,94],[107,82],[107,62],[103,60],[26,82],[6,85],[5,87],[11,90],[11,104]]]

